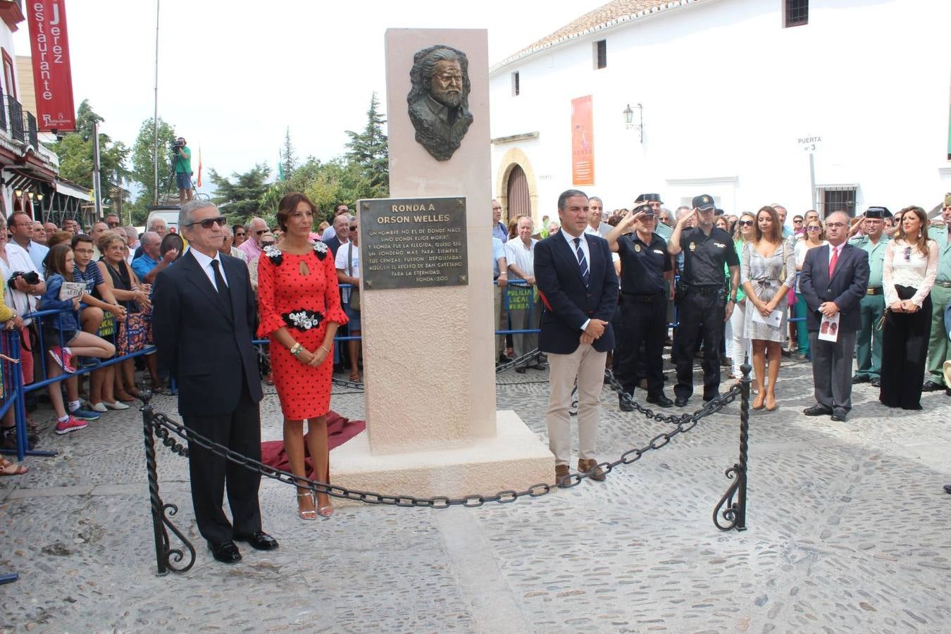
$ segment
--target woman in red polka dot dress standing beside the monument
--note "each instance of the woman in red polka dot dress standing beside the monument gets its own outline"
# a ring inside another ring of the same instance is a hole
[[[294,475],[306,477],[303,459],[303,420],[307,419],[307,449],[318,480],[330,482],[327,411],[334,372],[334,336],[347,317],[340,308],[337,269],[330,249],[309,240],[314,204],[290,193],[278,205],[284,232],[280,247],[264,249],[258,261],[258,336],[271,340],[271,368],[284,414],[284,450]],[[326,493],[317,499],[298,488],[301,519],[333,513]]]

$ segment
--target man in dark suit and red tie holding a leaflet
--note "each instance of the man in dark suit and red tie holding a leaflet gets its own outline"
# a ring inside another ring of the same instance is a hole
[[[856,333],[862,327],[859,302],[868,290],[868,254],[849,244],[849,218],[837,211],[825,218],[827,246],[805,252],[800,289],[808,307],[805,324],[812,353],[812,379],[816,405],[807,416],[830,415],[844,421],[852,409],[852,358]],[[819,338],[823,317],[839,315],[835,341]]]

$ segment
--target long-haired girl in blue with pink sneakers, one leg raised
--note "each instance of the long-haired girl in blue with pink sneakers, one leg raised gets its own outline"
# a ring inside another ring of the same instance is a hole
[[[49,350],[49,377],[76,372],[72,365],[74,355],[108,358],[115,355],[115,346],[106,339],[84,333],[76,320],[80,298],[60,299],[60,289],[64,281],[72,281],[75,258],[68,244],[57,244],[49,250],[47,263],[47,292],[40,299],[40,310],[64,311],[57,315],[43,317],[43,340]],[[56,433],[75,432],[87,427],[86,420],[80,420],[73,413],[79,410],[79,401],[69,403],[72,413],[67,413],[63,403],[63,393],[59,382],[47,387],[49,400],[56,411]]]

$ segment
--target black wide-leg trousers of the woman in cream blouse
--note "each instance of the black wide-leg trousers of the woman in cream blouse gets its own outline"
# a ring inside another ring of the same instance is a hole
[[[899,298],[910,299],[916,292],[897,286]],[[882,388],[879,400],[902,410],[922,409],[922,376],[931,336],[931,296],[924,298],[917,313],[885,314],[882,329]]]

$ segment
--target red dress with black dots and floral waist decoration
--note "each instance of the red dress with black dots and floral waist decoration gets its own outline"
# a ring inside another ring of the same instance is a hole
[[[279,263],[278,258],[262,253],[258,262],[258,336],[271,340],[271,371],[281,412],[288,420],[322,416],[330,409],[333,347],[323,363],[313,368],[291,355],[274,336],[283,326],[304,348],[316,352],[328,322],[347,322],[340,308],[333,255],[330,249],[323,255],[320,259],[315,251],[304,255],[281,253]]]

